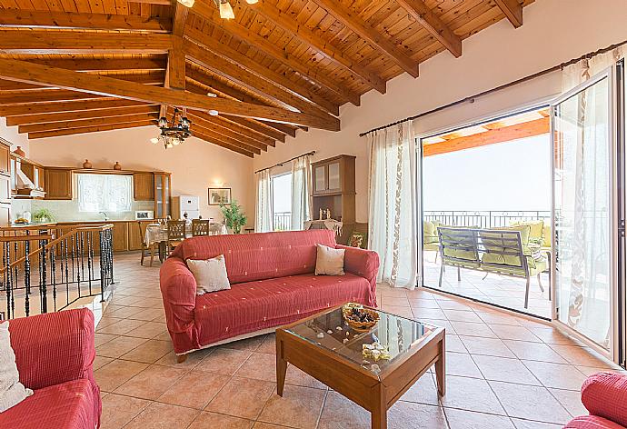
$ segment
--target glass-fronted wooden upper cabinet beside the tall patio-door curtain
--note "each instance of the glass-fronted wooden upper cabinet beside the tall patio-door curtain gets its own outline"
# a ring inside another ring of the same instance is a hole
[[[313,195],[353,194],[355,157],[339,155],[312,164]]]

